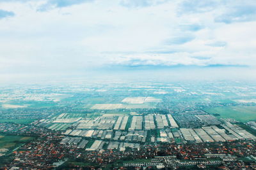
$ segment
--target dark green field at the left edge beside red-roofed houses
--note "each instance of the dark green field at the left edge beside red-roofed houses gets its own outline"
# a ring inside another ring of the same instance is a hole
[[[12,136],[0,134],[0,148],[15,148],[22,143],[31,141],[33,138],[26,136]]]

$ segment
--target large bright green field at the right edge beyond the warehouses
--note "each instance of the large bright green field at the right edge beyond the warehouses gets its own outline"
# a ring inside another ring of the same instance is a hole
[[[220,118],[234,118],[241,122],[256,120],[256,106],[223,106],[205,109],[207,113],[219,114]]]

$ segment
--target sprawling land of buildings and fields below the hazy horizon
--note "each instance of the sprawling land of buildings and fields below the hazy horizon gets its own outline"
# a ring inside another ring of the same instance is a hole
[[[255,169],[256,84],[15,85],[0,92],[2,169]]]

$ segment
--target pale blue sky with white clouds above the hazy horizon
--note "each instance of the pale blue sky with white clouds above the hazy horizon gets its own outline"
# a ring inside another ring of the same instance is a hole
[[[255,0],[0,0],[0,82],[254,79],[255,30]]]

